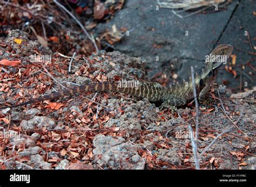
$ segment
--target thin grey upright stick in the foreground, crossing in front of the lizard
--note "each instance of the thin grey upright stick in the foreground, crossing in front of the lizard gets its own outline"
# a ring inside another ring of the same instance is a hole
[[[190,131],[190,139],[191,139],[191,145],[192,145],[192,150],[193,150],[193,155],[194,155],[194,163],[196,164],[196,169],[200,169],[199,166],[199,161],[198,161],[198,155],[197,155],[197,135],[198,135],[198,114],[199,114],[199,109],[198,109],[198,102],[197,102],[197,91],[196,91],[196,85],[194,83],[194,69],[191,66],[191,78],[192,78],[192,86],[193,86],[193,93],[194,93],[194,101],[196,105],[196,137],[195,139],[193,138],[193,130],[191,125],[188,126],[188,130]]]

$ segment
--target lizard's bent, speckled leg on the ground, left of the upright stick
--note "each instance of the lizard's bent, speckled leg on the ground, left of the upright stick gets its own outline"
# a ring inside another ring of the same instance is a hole
[[[176,95],[165,95],[163,97],[163,103],[160,106],[160,110],[163,108],[171,109],[172,111],[177,111],[176,106],[182,106],[187,103],[186,99]]]

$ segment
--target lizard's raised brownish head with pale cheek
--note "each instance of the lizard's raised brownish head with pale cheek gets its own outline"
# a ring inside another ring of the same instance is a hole
[[[210,55],[206,56],[206,64],[210,69],[219,68],[222,64],[227,63],[228,57],[233,52],[233,46],[227,44],[220,44],[213,49]]]

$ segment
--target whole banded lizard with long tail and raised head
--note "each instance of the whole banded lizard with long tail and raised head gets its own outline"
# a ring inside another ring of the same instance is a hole
[[[205,61],[204,67],[199,73],[194,75],[194,84],[196,86],[197,96],[199,102],[203,102],[206,93],[211,89],[211,85],[215,82],[220,66],[226,62],[227,58],[233,52],[233,46],[220,44],[208,55],[208,57],[224,56],[224,59],[215,59]],[[126,93],[139,98],[148,98],[151,102],[161,102],[160,110],[163,108],[176,109],[177,106],[185,105],[188,101],[194,99],[192,78],[189,77],[187,81],[182,83],[172,83],[169,86],[157,86],[155,83],[139,82],[138,87],[120,87],[117,82],[100,82],[89,85],[81,85],[71,87],[58,92],[53,92],[45,96],[33,98],[28,102],[17,105],[3,106],[0,109],[8,107],[17,107],[28,105],[36,102],[41,102],[48,99],[56,99],[68,95],[75,95],[76,93],[84,92],[119,92]]]

